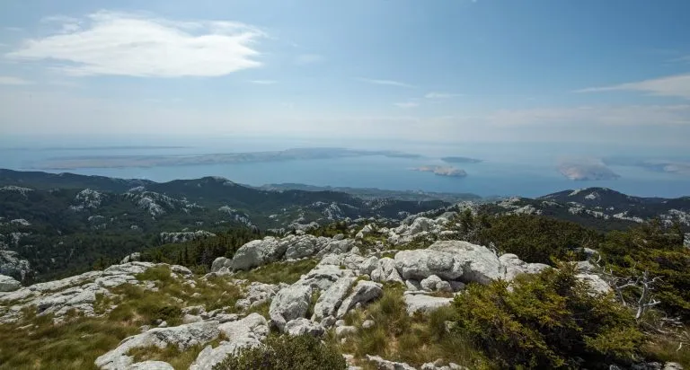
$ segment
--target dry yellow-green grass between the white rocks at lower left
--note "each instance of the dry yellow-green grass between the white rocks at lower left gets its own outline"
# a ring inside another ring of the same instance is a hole
[[[51,315],[36,316],[35,309],[27,309],[21,321],[0,324],[0,370],[93,369],[96,357],[116,348],[122,339],[139,333],[141,325],[162,319],[174,326],[181,323],[181,307],[203,304],[207,310],[224,306],[234,309],[240,297],[240,288],[224,277],[198,279],[192,288],[172,278],[167,267],[158,267],[137,278],[155,281],[158,291],[126,284],[111,289],[113,295],[97,295],[93,305],[99,317],[73,314],[65,323],[54,324]],[[199,295],[192,296],[196,292]],[[117,307],[108,312],[112,304]],[[268,305],[257,309],[268,311]],[[150,354],[137,350],[137,356],[186,369],[201,349],[179,352],[168,348]]]

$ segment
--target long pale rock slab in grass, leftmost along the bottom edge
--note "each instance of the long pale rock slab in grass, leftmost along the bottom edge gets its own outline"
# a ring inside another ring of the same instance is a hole
[[[147,347],[166,348],[169,345],[173,345],[180,350],[185,350],[216,339],[218,334],[220,334],[218,322],[195,322],[172,328],[147,330],[122,340],[118,348],[112,349],[105,355],[96,358],[95,365],[101,369],[108,370],[127,369],[134,362],[133,357],[128,356],[128,352],[131,349]]]

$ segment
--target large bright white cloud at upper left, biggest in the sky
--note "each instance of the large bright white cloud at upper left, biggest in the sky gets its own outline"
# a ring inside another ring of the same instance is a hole
[[[219,76],[261,66],[254,44],[265,34],[238,22],[179,22],[132,13],[99,12],[60,31],[25,40],[5,54],[15,60],[57,61],[67,75]]]

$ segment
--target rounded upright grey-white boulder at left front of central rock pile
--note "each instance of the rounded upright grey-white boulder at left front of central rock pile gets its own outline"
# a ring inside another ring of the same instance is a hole
[[[280,289],[270,303],[271,323],[283,331],[289,321],[305,317],[311,299],[312,287],[309,285],[293,284]]]

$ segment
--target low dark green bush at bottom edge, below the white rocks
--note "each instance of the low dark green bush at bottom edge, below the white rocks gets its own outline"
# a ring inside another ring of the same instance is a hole
[[[243,348],[235,356],[214,366],[214,370],[336,370],[347,363],[336,348],[309,335],[270,337],[264,346]]]

